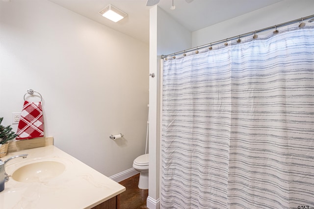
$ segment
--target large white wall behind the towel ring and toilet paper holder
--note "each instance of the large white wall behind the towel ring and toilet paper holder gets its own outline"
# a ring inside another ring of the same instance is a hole
[[[32,88],[56,147],[106,176],[144,154],[147,44],[48,0],[13,0],[0,1],[0,50],[3,125]],[[109,139],[118,133],[124,138]]]

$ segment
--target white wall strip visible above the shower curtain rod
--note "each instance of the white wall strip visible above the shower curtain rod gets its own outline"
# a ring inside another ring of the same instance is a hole
[[[192,32],[192,47],[275,26],[314,14],[314,0],[284,0]],[[175,52],[175,51],[174,51]]]

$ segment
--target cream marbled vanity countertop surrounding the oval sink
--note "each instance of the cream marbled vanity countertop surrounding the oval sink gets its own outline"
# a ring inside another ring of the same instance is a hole
[[[21,154],[28,156],[6,163],[10,180],[0,192],[0,209],[90,209],[126,190],[53,145],[17,151],[1,159]],[[45,160],[62,162],[65,171],[46,182],[22,183],[12,179],[12,173],[24,164]]]

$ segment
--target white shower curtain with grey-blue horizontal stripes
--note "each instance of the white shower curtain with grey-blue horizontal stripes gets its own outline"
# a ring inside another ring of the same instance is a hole
[[[313,29],[163,60],[162,209],[314,209]]]

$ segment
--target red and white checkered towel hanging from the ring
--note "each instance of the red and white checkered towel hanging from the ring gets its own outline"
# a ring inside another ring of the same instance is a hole
[[[44,136],[44,118],[41,102],[24,102],[16,139],[31,139]]]

